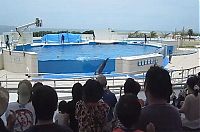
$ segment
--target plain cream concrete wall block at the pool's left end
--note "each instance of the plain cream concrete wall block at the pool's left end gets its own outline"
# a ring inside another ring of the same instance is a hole
[[[38,73],[38,58],[33,52],[3,50],[4,69],[16,73]]]

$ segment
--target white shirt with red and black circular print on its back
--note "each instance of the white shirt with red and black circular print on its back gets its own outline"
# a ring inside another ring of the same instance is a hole
[[[6,119],[10,114],[13,114],[10,110],[16,113],[14,132],[22,132],[35,124],[35,110],[31,102],[25,105],[18,102],[9,103],[5,112]]]

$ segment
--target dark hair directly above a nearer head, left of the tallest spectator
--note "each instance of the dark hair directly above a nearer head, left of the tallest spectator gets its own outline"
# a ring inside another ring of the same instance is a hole
[[[141,86],[138,82],[136,82],[133,78],[128,78],[124,83],[124,93],[137,94],[140,92]]]

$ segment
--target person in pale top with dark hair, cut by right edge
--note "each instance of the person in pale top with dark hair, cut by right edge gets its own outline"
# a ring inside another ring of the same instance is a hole
[[[192,76],[187,80],[188,95],[179,112],[184,113],[183,127],[200,130],[200,79]]]

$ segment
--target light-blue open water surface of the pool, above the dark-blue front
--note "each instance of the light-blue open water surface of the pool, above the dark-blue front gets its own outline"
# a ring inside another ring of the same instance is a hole
[[[46,45],[27,48],[26,51],[38,53],[40,61],[45,60],[97,60],[117,57],[135,56],[153,53],[154,46],[130,44],[106,45]]]

